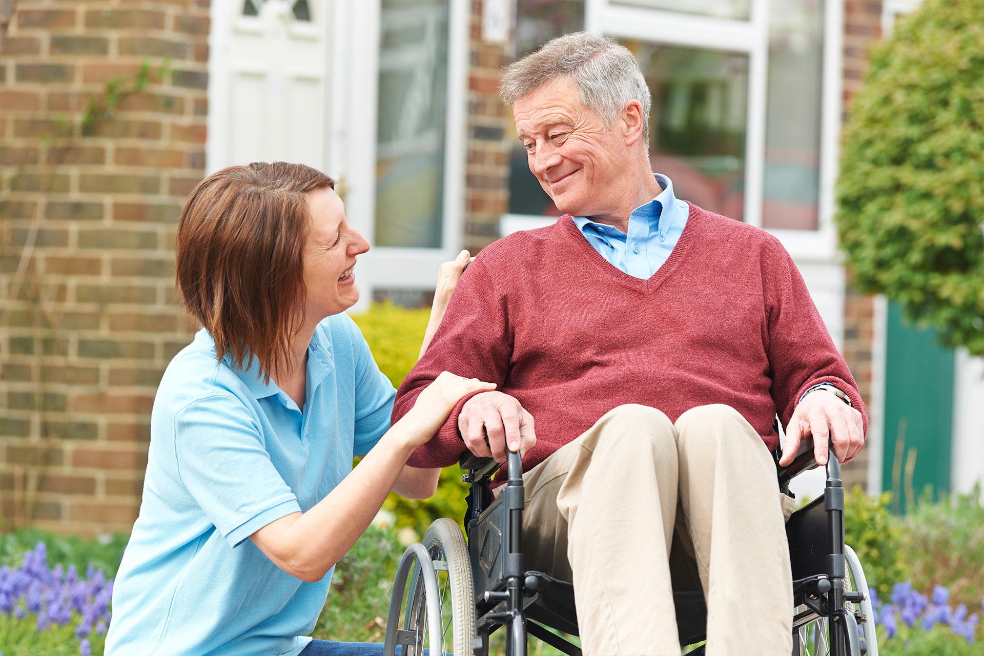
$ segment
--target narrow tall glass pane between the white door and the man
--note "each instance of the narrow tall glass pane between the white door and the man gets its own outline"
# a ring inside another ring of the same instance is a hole
[[[448,0],[383,0],[376,138],[379,246],[440,248]]]

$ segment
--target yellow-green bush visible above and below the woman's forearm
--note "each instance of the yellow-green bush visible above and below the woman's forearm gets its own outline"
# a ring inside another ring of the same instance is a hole
[[[373,303],[368,312],[352,315],[352,320],[369,342],[380,371],[394,387],[400,387],[416,364],[429,318],[427,308],[407,310],[390,301]],[[466,492],[467,487],[461,482],[461,469],[453,465],[441,472],[437,493],[430,499],[403,499],[391,493],[383,508],[396,515],[397,528],[409,526],[419,537],[438,517],[461,521]]]

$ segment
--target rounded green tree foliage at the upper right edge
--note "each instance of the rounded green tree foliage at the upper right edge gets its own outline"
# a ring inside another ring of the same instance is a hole
[[[984,354],[984,2],[927,0],[872,48],[837,204],[854,284]]]

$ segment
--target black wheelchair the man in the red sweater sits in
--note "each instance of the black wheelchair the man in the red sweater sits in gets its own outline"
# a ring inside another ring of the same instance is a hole
[[[508,453],[508,480],[497,499],[491,478],[500,463],[465,454],[470,484],[467,539],[452,519],[431,524],[400,560],[386,627],[385,656],[488,656],[489,636],[505,627],[507,656],[525,656],[532,635],[569,656],[580,648],[555,631],[578,635],[574,586],[523,566],[523,464]],[[805,440],[796,458],[776,470],[788,494],[797,474],[818,466]],[[823,496],[786,523],[793,576],[793,656],[878,656],[868,584],[854,551],[844,544],[844,490],[830,449]],[[671,551],[670,560],[674,554]],[[673,580],[681,645],[706,639],[707,606],[700,581]],[[860,629],[859,629],[860,627]],[[551,630],[554,629],[554,630]],[[688,652],[704,653],[704,646]]]

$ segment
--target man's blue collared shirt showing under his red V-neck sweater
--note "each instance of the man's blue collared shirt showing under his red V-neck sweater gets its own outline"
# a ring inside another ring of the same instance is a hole
[[[658,173],[653,177],[663,191],[649,203],[632,210],[628,234],[584,216],[573,217],[587,243],[601,257],[629,275],[644,280],[670,257],[690,214],[690,206],[673,196],[673,182]]]

